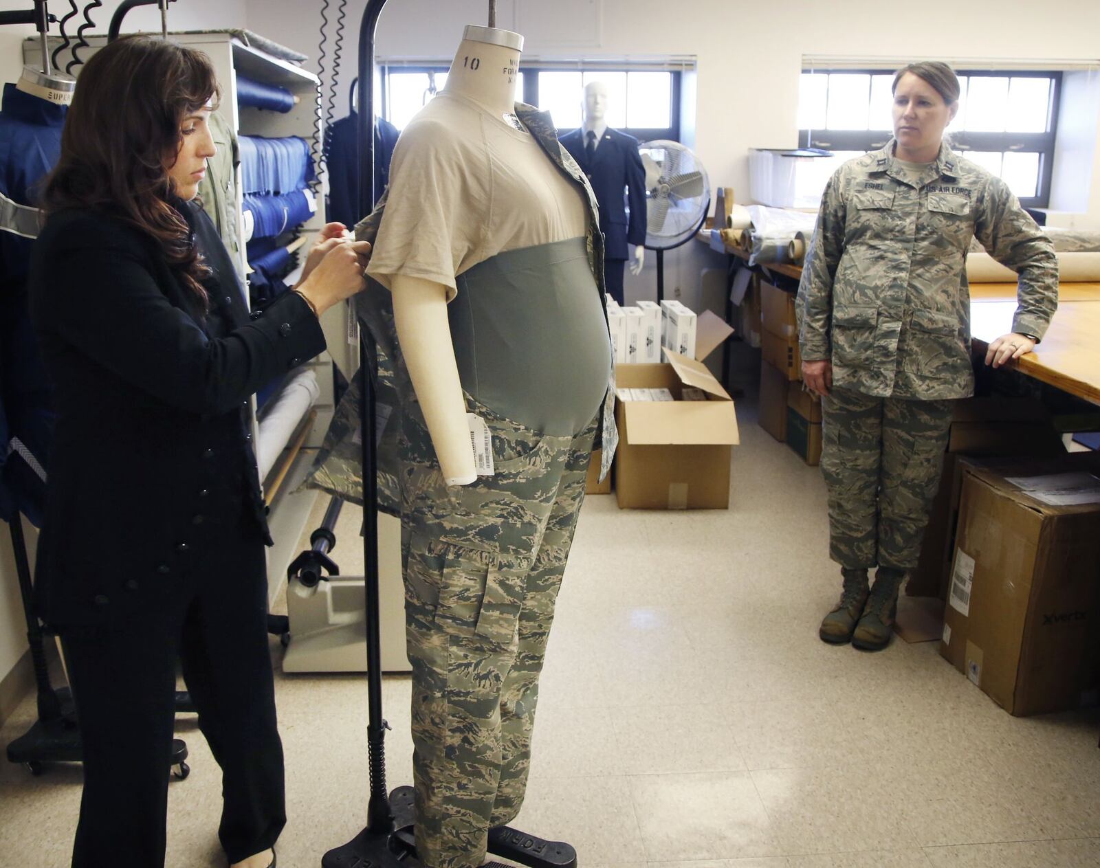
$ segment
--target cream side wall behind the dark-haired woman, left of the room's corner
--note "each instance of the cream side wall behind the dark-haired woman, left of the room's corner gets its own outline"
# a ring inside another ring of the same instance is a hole
[[[87,0],[78,6],[84,9]],[[20,11],[30,9],[28,0],[0,0],[0,11]],[[92,12],[96,23],[95,33],[107,33],[111,15],[118,8],[118,2],[108,0]],[[287,3],[289,7],[289,3]],[[51,10],[58,18],[68,11],[68,4],[54,2]],[[73,19],[66,29],[70,35],[76,34],[76,25],[82,21],[80,17]],[[168,26],[173,30],[199,30],[215,28],[243,28],[245,23],[244,0],[185,0],[173,3],[169,8]],[[124,31],[128,33],[146,30],[161,30],[161,15],[155,7],[132,10],[125,18]],[[56,25],[52,33],[56,34]],[[25,26],[0,28],[0,81],[15,81],[23,69],[23,41],[35,35],[30,24]],[[34,547],[37,537],[34,529],[26,527],[26,545],[31,550],[33,562]],[[26,625],[23,620],[23,609],[19,597],[19,586],[15,581],[15,568],[12,561],[11,537],[8,527],[0,527],[0,681],[19,662],[26,651]]]

